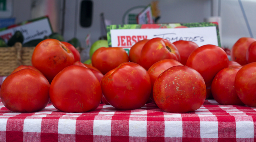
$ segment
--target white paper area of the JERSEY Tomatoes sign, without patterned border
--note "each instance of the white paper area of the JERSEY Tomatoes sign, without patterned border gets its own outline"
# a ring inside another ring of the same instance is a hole
[[[195,42],[199,47],[206,44],[218,46],[217,29],[213,27],[193,28],[161,28],[161,29],[111,29],[112,47],[130,49],[132,45],[143,39],[156,37],[169,40],[171,43],[177,40]]]

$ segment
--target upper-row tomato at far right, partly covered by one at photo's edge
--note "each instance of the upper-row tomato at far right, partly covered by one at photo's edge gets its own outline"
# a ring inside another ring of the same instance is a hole
[[[231,60],[238,62],[240,65],[247,64],[246,61],[246,51],[249,46],[255,42],[254,38],[242,37],[233,45],[231,49]]]

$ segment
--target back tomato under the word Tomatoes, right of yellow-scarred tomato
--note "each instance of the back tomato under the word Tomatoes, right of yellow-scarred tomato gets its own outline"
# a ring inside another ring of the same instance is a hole
[[[186,65],[188,56],[198,48],[198,45],[191,41],[178,40],[177,42],[172,43],[178,49],[178,52],[181,56],[181,64]]]

